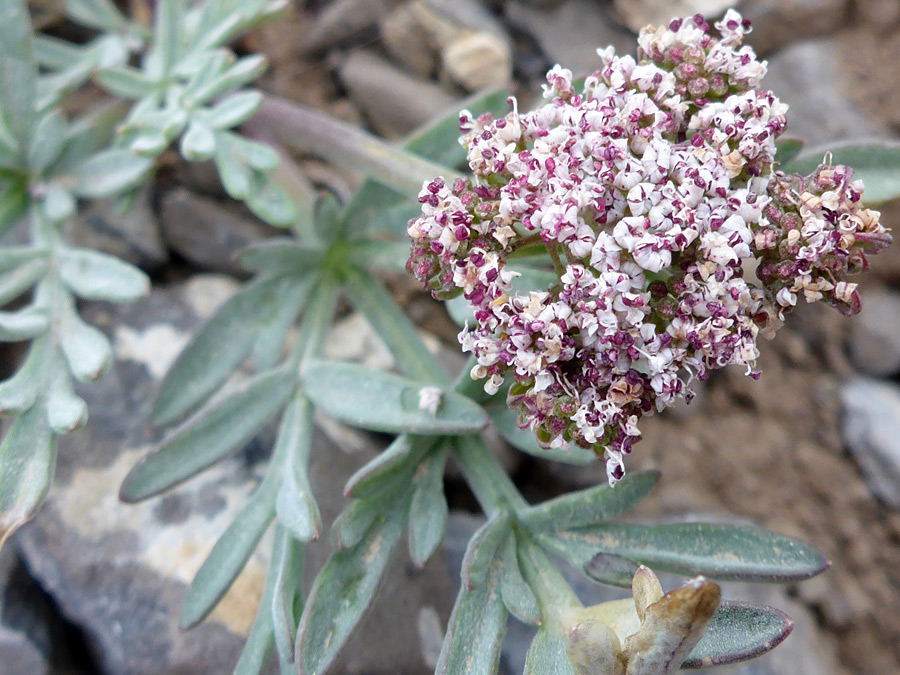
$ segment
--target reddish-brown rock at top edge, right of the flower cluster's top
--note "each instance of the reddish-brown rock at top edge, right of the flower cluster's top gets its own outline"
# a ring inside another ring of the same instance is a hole
[[[846,0],[745,0],[738,9],[753,23],[747,42],[759,54],[830,33],[847,18]]]

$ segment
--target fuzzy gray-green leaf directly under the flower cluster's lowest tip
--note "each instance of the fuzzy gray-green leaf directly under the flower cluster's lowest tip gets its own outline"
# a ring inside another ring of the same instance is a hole
[[[616,483],[571,492],[526,509],[521,521],[532,531],[597,525],[634,508],[659,480],[658,471],[632,471]]]

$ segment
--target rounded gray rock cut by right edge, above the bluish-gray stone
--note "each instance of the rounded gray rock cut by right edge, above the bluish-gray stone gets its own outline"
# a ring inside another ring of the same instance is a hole
[[[900,372],[900,293],[869,290],[849,331],[850,359],[867,375]]]

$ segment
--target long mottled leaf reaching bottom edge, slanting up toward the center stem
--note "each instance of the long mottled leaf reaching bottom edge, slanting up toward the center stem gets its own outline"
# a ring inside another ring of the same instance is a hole
[[[350,637],[403,533],[408,503],[406,495],[397,495],[393,508],[356,546],[333,553],[319,571],[297,633],[299,675],[324,673]]]

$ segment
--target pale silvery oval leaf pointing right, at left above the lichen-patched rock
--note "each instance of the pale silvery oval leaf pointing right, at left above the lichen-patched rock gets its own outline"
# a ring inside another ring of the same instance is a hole
[[[134,302],[150,292],[150,279],[134,265],[87,248],[65,248],[59,253],[63,283],[85,300]]]

